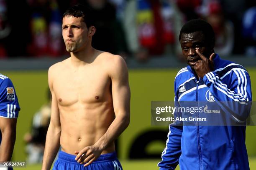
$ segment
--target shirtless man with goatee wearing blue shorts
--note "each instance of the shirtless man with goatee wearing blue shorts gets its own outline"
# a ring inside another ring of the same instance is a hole
[[[75,5],[63,15],[62,36],[71,57],[49,68],[51,122],[42,170],[121,170],[114,140],[130,121],[128,69],[118,55],[91,46],[90,10]]]

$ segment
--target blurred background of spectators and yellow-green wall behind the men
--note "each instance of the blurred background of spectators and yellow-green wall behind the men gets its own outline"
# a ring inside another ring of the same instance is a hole
[[[77,3],[94,13],[92,46],[121,55],[129,67],[131,123],[116,141],[124,169],[158,169],[168,127],[151,126],[151,101],[174,98],[174,77],[186,66],[178,40],[186,21],[202,18],[212,25],[215,52],[246,67],[256,96],[256,1],[0,0],[0,72],[13,81],[21,107],[13,160],[26,160],[27,169],[41,167],[51,100],[47,70],[69,57],[62,14]],[[256,127],[247,127],[251,169],[255,136]]]

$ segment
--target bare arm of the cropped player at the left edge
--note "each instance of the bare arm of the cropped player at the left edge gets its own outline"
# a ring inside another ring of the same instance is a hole
[[[0,145],[0,162],[10,161],[16,139],[16,118],[0,117],[2,142]]]

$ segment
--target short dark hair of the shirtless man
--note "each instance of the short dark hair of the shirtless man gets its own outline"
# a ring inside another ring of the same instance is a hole
[[[92,10],[89,7],[84,6],[82,4],[77,4],[67,9],[62,17],[64,18],[66,16],[73,16],[76,18],[82,17],[87,28],[90,28],[90,26],[94,25]]]

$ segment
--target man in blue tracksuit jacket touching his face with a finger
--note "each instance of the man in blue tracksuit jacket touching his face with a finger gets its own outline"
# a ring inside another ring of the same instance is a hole
[[[210,24],[200,19],[190,20],[182,27],[179,40],[188,66],[175,77],[175,101],[215,100],[242,105],[251,102],[248,72],[214,53]],[[240,121],[245,112],[240,110],[232,116]],[[171,124],[158,166],[160,170],[174,170],[178,164],[181,170],[248,170],[245,133],[246,126]]]

